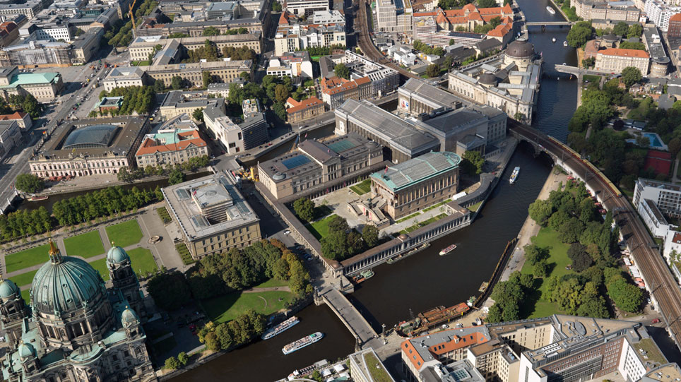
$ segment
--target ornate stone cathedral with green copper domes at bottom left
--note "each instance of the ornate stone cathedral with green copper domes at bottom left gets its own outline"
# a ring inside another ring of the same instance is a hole
[[[30,310],[19,288],[0,280],[1,325],[12,333],[3,380],[155,381],[142,293],[124,249],[107,253],[108,287],[92,265],[62,256],[51,240],[45,256],[49,260],[32,278]]]

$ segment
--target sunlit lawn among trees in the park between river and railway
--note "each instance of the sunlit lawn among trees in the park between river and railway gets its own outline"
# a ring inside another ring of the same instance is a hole
[[[552,268],[545,279],[554,275],[562,276],[567,275],[568,273],[574,273],[572,270],[565,269],[567,265],[572,264],[570,258],[567,257],[567,250],[570,246],[569,244],[560,242],[557,232],[553,229],[550,229],[549,227],[540,229],[537,236],[532,238],[532,243],[540,248],[549,249],[549,258],[547,258],[546,262]],[[521,273],[531,275],[533,273],[532,266],[529,263],[525,263]],[[543,279],[535,279],[535,288],[535,292],[526,298],[526,311],[521,312],[521,317],[536,318],[564,313],[556,304],[541,298],[541,295],[545,290]]]

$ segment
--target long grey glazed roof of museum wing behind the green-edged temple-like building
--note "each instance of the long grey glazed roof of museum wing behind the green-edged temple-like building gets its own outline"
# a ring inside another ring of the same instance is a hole
[[[368,102],[346,100],[336,114],[347,115],[354,124],[408,153],[439,148],[439,141],[432,134],[419,131],[413,123]]]

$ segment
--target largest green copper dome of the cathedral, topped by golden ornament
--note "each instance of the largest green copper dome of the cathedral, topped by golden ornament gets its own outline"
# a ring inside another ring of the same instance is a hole
[[[43,264],[33,277],[32,304],[45,314],[81,309],[105,292],[99,273],[80,258],[59,256]]]

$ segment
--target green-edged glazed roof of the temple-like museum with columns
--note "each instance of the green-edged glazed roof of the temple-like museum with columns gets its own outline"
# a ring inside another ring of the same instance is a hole
[[[374,172],[372,180],[386,186],[392,192],[400,191],[421,181],[456,169],[461,157],[448,151],[431,152],[415,157],[387,171]]]

